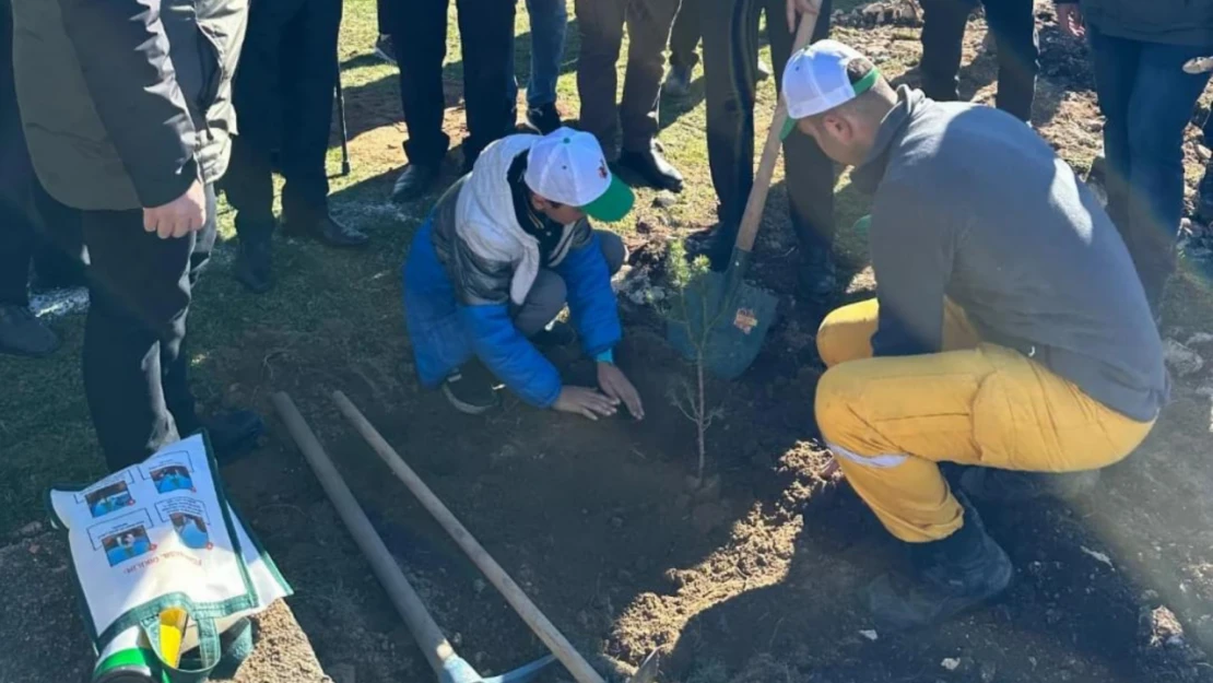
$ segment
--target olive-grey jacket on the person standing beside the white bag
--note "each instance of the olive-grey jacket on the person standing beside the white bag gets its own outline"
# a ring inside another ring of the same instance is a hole
[[[227,170],[249,0],[12,0],[34,169],[85,210],[160,206]]]

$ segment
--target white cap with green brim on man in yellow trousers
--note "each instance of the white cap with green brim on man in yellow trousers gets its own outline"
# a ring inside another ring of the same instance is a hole
[[[855,82],[847,75],[847,66],[862,57],[854,47],[837,40],[821,40],[792,55],[784,69],[784,99],[787,102],[784,138],[796,130],[799,119],[845,104],[876,85],[881,78],[876,67]]]

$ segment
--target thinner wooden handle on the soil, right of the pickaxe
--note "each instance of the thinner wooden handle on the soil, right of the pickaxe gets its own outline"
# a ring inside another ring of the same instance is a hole
[[[492,559],[492,556],[484,550],[484,546],[477,542],[467,528],[451,514],[451,511],[429,490],[429,486],[421,480],[421,477],[417,477],[417,473],[404,462],[400,454],[395,453],[395,449],[383,439],[361,411],[346,398],[346,394],[332,392],[332,400],[337,404],[337,410],[349,420],[354,429],[366,439],[366,443],[370,444],[397,478],[404,482],[404,485],[416,496],[422,507],[450,534],[459,547],[484,573],[485,579],[501,592],[506,602],[509,603],[509,607],[514,608],[518,616],[543,641],[543,644],[552,650],[556,659],[560,660],[560,664],[569,670],[569,673],[573,675],[577,683],[605,683],[603,677],[573,647],[573,643],[557,630],[556,625],[548,621],[547,616],[526,597],[522,587]]]

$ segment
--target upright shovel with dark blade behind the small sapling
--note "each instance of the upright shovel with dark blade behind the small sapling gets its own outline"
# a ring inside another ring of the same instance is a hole
[[[792,50],[804,47],[813,36],[821,2],[814,4],[811,12],[801,17]],[[780,132],[787,120],[784,96],[775,104],[775,118],[767,132],[758,173],[746,200],[745,214],[733,256],[724,273],[706,273],[683,292],[685,315],[671,320],[666,329],[670,343],[691,362],[704,366],[718,377],[734,380],[745,372],[762,349],[767,331],[775,318],[775,297],[762,289],[745,283],[750,269],[750,257],[754,237],[762,223],[762,211],[770,190],[770,178],[775,173],[779,150],[782,146]]]

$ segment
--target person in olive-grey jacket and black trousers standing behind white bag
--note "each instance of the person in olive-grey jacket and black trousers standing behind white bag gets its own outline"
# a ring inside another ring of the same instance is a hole
[[[90,258],[84,385],[110,469],[180,434],[251,446],[245,411],[204,421],[186,319],[215,243],[212,183],[235,130],[245,0],[16,0],[17,101],[38,178],[81,210]]]

